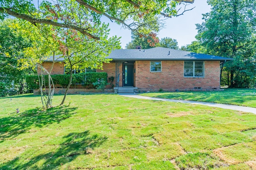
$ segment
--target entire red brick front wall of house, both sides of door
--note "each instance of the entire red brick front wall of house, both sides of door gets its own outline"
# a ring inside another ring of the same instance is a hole
[[[51,62],[43,63],[49,70]],[[184,77],[184,61],[162,61],[162,72],[150,72],[150,61],[136,61],[134,63],[134,86],[141,91],[158,91],[163,89],[171,90],[194,90],[194,87],[201,89],[220,88],[220,61],[205,61],[204,77],[191,78]],[[40,71],[40,69],[38,69]],[[116,86],[116,63],[104,63],[103,70],[97,72],[107,72],[108,77],[115,77]],[[64,63],[55,63],[52,74],[64,74]],[[122,64],[119,66],[119,86],[122,87]],[[106,88],[111,88],[108,85]]]

